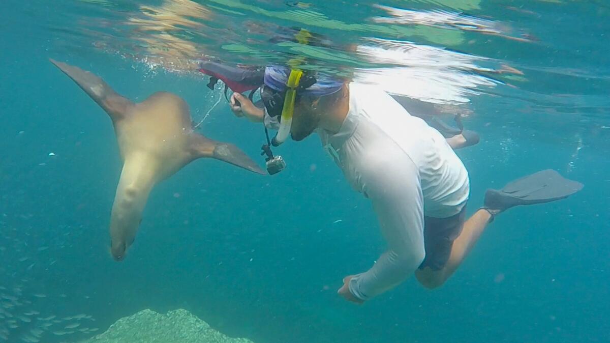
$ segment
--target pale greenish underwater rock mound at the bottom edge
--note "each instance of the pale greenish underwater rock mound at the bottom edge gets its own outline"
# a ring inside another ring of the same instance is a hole
[[[145,309],[123,317],[104,333],[80,343],[253,343],[229,338],[185,309],[159,314]]]

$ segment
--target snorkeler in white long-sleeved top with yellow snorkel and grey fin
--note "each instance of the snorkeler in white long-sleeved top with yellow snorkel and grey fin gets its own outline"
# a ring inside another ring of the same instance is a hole
[[[518,205],[566,198],[583,186],[545,170],[488,190],[484,206],[466,219],[468,172],[448,140],[382,88],[296,68],[267,67],[263,108],[233,93],[231,109],[290,136],[320,135],[325,150],[355,190],[370,199],[389,245],[367,272],[348,275],[338,293],[363,303],[411,273],[439,287],[459,267],[495,215]]]

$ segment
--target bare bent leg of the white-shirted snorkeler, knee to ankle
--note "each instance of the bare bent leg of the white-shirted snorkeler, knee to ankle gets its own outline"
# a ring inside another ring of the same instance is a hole
[[[464,222],[462,232],[451,247],[451,255],[447,263],[442,269],[434,270],[430,267],[418,269],[415,271],[415,278],[426,288],[436,288],[442,286],[451,275],[458,269],[459,265],[464,261],[470,250],[475,246],[476,242],[481,237],[483,231],[489,224],[492,215],[484,210],[479,209],[472,217]]]

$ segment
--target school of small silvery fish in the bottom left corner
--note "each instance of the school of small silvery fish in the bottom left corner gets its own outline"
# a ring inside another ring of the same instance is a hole
[[[75,341],[98,331],[98,328],[92,327],[95,319],[88,314],[59,317],[44,311],[54,308],[49,304],[61,303],[67,297],[66,294],[33,291],[32,288],[35,287],[31,286],[31,280],[27,278],[27,273],[33,272],[35,265],[40,262],[37,254],[49,247],[29,247],[12,234],[11,231],[15,229],[9,230],[1,224],[0,222],[0,343],[55,342],[58,336],[62,336],[62,339],[66,336],[66,339]],[[7,248],[7,242],[13,246]],[[25,251],[34,252],[21,255]]]

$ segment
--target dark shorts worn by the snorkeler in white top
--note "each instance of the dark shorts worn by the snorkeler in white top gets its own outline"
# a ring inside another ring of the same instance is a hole
[[[453,241],[462,233],[465,220],[466,205],[462,211],[451,217],[424,217],[423,239],[426,257],[419,269],[430,267],[432,270],[440,270],[445,267],[451,256]]]

